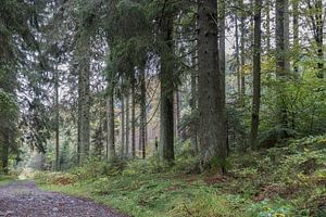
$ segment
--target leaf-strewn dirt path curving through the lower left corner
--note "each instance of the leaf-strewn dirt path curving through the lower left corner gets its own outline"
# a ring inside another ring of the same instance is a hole
[[[126,217],[93,202],[39,190],[34,182],[0,187],[0,217]]]

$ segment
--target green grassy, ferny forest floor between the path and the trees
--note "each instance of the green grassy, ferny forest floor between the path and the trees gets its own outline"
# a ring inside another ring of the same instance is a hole
[[[198,159],[173,168],[148,161],[89,163],[35,174],[46,190],[91,197],[131,216],[326,216],[326,137],[229,156],[226,176],[199,175]]]

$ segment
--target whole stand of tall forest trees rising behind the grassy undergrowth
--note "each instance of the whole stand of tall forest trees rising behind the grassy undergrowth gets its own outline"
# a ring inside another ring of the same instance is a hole
[[[173,165],[189,140],[225,173],[230,152],[326,129],[322,0],[4,0],[0,25],[3,168],[26,144],[57,169]]]

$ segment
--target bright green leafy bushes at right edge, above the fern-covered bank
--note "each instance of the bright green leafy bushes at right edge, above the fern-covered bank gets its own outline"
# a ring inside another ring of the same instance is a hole
[[[296,136],[325,133],[326,86],[315,71],[303,65],[302,75],[289,74],[279,79],[273,73],[263,74],[261,129],[269,131],[279,125],[279,107],[286,108],[287,128]]]

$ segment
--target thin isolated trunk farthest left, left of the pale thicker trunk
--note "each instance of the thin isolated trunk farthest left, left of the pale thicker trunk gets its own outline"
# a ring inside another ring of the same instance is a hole
[[[59,111],[59,71],[54,72],[54,92],[55,92],[55,170],[60,169],[60,153],[59,153],[59,125],[60,125],[60,111]]]

